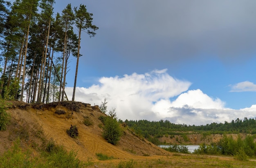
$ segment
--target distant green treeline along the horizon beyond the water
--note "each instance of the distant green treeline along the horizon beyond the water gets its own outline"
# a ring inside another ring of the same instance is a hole
[[[119,120],[119,122],[123,122]],[[248,133],[256,134],[256,119],[245,117],[243,120],[237,118],[231,122],[216,123],[206,125],[186,125],[186,124],[173,124],[168,120],[160,120],[150,122],[148,120],[125,120],[126,123],[135,133],[149,137],[163,137],[164,135],[183,135],[184,132],[190,131],[191,133],[208,132],[210,134],[230,134],[230,133]]]

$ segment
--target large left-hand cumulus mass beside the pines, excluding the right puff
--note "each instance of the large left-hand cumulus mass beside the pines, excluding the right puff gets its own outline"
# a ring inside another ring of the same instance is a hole
[[[171,77],[166,71],[163,69],[145,74],[126,74],[123,77],[101,77],[98,85],[77,87],[75,100],[99,105],[106,97],[108,107],[116,108],[119,118],[152,120],[157,115],[151,109],[155,102],[180,95],[191,85],[191,82]],[[68,97],[71,97],[72,90],[66,88]]]

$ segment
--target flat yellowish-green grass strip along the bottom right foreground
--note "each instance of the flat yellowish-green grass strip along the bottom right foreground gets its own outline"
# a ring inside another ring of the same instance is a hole
[[[240,161],[232,157],[173,154],[158,159],[131,159],[98,162],[101,168],[255,168],[256,161]]]

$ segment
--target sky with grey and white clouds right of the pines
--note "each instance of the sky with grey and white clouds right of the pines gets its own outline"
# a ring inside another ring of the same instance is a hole
[[[119,119],[202,125],[256,118],[255,0],[56,0],[93,13],[75,100]],[[72,99],[76,58],[65,91]]]

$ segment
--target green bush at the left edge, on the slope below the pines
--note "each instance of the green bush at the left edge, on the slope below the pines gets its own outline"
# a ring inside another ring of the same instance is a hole
[[[10,115],[5,111],[6,103],[0,98],[0,130],[6,130],[6,125],[10,121]]]

